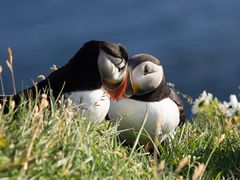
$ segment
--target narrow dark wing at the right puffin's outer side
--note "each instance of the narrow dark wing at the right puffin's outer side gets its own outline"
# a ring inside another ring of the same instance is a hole
[[[182,125],[185,121],[186,121],[186,114],[185,114],[185,111],[184,111],[184,106],[183,106],[183,103],[182,103],[182,100],[180,99],[175,87],[174,87],[174,84],[172,83],[167,83],[169,89],[170,89],[170,99],[173,100],[178,108],[179,108],[179,112],[180,112],[180,123],[179,125]]]

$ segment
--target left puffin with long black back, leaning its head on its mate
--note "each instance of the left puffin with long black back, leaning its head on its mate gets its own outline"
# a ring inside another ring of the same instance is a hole
[[[67,64],[11,99],[19,104],[21,96],[36,98],[37,94],[49,90],[48,94],[52,94],[55,99],[63,96],[79,105],[87,121],[101,122],[109,110],[110,98],[117,100],[124,93],[127,61],[127,50],[121,44],[90,40],[83,44]],[[5,98],[1,96],[0,99]]]

